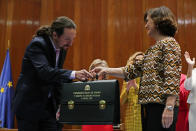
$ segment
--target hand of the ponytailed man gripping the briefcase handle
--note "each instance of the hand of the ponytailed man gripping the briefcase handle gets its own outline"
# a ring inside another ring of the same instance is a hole
[[[93,76],[85,69],[76,71],[75,77],[81,81],[87,81],[89,78],[93,78]]]

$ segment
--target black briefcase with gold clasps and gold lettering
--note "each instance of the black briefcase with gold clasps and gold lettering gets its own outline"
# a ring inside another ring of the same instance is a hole
[[[65,83],[61,91],[60,123],[104,125],[120,123],[117,80]]]

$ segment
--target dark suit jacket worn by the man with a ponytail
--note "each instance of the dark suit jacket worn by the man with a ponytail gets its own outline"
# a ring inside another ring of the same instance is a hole
[[[61,83],[70,80],[71,71],[62,69],[65,55],[66,52],[61,50],[58,66],[55,67],[56,53],[49,37],[33,38],[25,51],[22,71],[16,85],[16,116],[27,120],[40,118],[46,108],[49,92],[54,100],[54,90]]]

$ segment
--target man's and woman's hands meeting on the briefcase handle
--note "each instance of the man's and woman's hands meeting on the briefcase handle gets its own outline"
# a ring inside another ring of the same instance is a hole
[[[91,71],[87,71],[85,69],[79,70],[75,72],[75,78],[81,81],[87,81],[89,79],[98,79],[100,76],[104,76],[106,74],[106,67],[96,67]]]

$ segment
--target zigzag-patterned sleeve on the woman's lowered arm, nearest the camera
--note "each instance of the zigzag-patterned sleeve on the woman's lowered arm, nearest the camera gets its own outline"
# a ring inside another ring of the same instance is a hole
[[[163,42],[163,69],[165,96],[178,96],[181,76],[181,50],[175,41]]]

